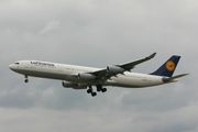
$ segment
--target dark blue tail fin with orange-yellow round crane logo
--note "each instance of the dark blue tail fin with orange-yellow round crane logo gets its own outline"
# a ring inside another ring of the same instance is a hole
[[[180,56],[173,55],[167,62],[165,62],[156,72],[151,75],[172,77],[174,74]]]

